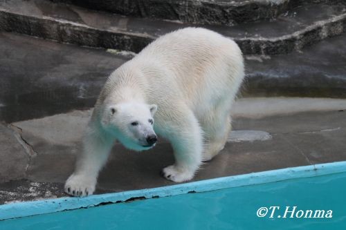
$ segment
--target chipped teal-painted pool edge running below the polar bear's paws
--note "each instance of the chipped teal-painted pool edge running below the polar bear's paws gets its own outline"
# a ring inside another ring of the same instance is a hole
[[[287,169],[277,169],[258,173],[233,175],[224,178],[201,180],[185,184],[163,186],[153,189],[141,189],[119,193],[91,195],[86,198],[57,198],[0,205],[0,220],[21,218],[30,215],[55,213],[58,211],[95,207],[100,204],[125,202],[134,198],[161,198],[171,195],[181,195],[189,192],[206,192],[227,189],[237,186],[264,184],[295,178],[309,178],[318,175],[346,172],[346,161],[327,164],[298,166]]]

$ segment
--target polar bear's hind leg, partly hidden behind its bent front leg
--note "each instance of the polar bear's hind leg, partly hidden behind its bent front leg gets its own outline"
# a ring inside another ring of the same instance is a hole
[[[230,115],[215,113],[212,119],[203,122],[206,143],[204,144],[203,162],[212,160],[227,142],[231,130]]]

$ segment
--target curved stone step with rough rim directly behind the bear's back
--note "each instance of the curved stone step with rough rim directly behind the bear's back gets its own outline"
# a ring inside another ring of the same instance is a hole
[[[277,55],[300,50],[346,31],[342,3],[297,8],[273,21],[203,27],[235,39],[244,54]],[[44,0],[0,1],[0,30],[55,41],[139,52],[167,32],[196,26],[86,10]]]

